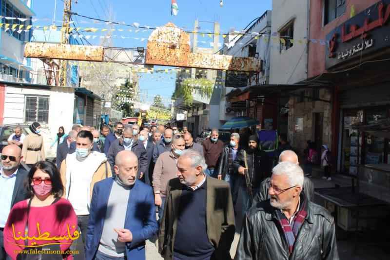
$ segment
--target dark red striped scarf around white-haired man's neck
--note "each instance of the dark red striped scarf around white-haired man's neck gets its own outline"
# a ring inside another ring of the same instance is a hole
[[[289,245],[290,254],[292,253],[295,239],[298,236],[298,233],[299,233],[299,230],[301,229],[303,221],[305,221],[305,218],[308,214],[308,212],[307,212],[307,207],[308,207],[307,199],[306,199],[306,196],[303,194],[303,192],[301,193],[300,200],[301,200],[300,209],[298,209],[299,211],[297,212],[295,218],[292,220],[291,225],[290,225],[289,220],[282,213],[282,211],[279,209],[276,210],[276,216],[279,220],[279,223],[280,223],[282,230],[284,232],[284,236],[285,236],[287,243]]]

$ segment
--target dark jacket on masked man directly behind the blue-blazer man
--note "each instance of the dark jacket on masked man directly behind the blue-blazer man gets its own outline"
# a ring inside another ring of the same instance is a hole
[[[111,145],[110,149],[108,150],[107,154],[107,160],[111,165],[111,170],[114,173],[114,165],[115,165],[115,158],[117,157],[117,154],[120,151],[123,151],[125,147],[123,146],[123,137],[114,140]],[[143,146],[141,141],[135,141],[131,147],[131,151],[137,155],[138,158],[138,175],[139,177],[140,173],[143,174],[146,173],[146,170],[148,169],[148,156],[146,154],[145,147]]]

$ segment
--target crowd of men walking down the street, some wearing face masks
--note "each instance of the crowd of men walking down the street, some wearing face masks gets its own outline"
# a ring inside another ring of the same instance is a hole
[[[334,220],[311,201],[313,184],[296,154],[281,152],[273,167],[257,135],[245,148],[238,133],[227,144],[218,138],[218,129],[198,144],[187,127],[74,125],[56,163],[85,259],[145,259],[145,240],[157,234],[166,260],[231,259],[237,212],[234,259],[338,259]],[[0,260],[7,215],[28,198],[17,141],[1,155]]]

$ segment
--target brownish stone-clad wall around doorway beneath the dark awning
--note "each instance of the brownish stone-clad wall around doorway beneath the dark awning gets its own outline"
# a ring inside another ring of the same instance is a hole
[[[308,94],[306,94],[308,96]],[[321,89],[319,98],[331,100],[331,92]],[[322,144],[331,149],[331,104],[323,101],[297,102],[297,97],[289,100],[288,139],[292,146],[303,153],[307,140],[314,140],[314,113],[324,113]],[[296,118],[303,118],[303,132],[295,131]]]

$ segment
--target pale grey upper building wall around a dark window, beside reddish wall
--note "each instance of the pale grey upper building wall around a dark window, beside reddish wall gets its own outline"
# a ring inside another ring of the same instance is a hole
[[[307,79],[306,45],[296,41],[307,38],[307,0],[273,0],[272,34],[279,33],[290,21],[294,21],[295,43],[286,51],[280,52],[278,42],[270,40],[271,84],[293,84]],[[273,36],[272,37],[279,37]],[[279,38],[278,38],[279,39]]]

